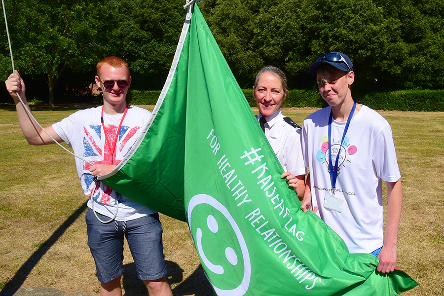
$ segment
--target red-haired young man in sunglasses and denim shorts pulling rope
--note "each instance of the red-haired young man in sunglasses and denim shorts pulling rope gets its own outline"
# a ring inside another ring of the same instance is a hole
[[[118,57],[97,64],[97,85],[103,105],[77,111],[44,129],[57,142],[66,142],[88,162],[75,158],[80,184],[88,201],[86,224],[88,246],[96,263],[101,296],[121,296],[123,238],[128,241],[138,278],[150,296],[172,296],[165,279],[162,227],[157,212],[138,204],[104,185],[95,176],[106,175],[122,160],[137,141],[151,112],[126,103],[131,76],[128,65]],[[31,145],[54,144],[35,124],[20,103],[29,109],[25,84],[19,73],[9,75],[6,88],[14,99],[19,124]]]

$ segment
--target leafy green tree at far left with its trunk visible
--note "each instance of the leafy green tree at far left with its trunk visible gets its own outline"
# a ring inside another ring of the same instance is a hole
[[[97,63],[101,44],[108,38],[104,21],[109,12],[98,9],[104,4],[102,0],[5,0],[16,68],[22,74],[47,75],[51,109],[54,86],[64,70],[83,72]],[[6,46],[1,54],[4,71]]]

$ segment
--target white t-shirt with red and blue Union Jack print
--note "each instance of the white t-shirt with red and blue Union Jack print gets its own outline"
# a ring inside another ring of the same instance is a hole
[[[103,113],[106,137],[101,122],[102,106],[77,111],[62,121],[54,123],[54,131],[73,148],[74,154],[91,162],[92,164],[107,163],[118,164],[128,151],[134,146],[145,125],[151,116],[151,112],[135,106],[130,106],[120,127],[118,142],[115,145],[116,133],[122,119],[122,114],[110,115]],[[108,139],[110,144],[105,141]],[[118,211],[115,220],[129,221],[146,215],[156,213],[126,196],[114,191],[107,185],[93,181],[90,164],[75,157],[80,184],[85,195],[93,194],[94,210],[102,215],[114,217],[116,199]],[[88,207],[92,208],[91,200]]]

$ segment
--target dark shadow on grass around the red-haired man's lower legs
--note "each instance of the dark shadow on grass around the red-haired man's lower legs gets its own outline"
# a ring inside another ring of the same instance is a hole
[[[168,284],[173,286],[182,282],[172,289],[174,296],[214,296],[213,288],[204,274],[202,265],[199,265],[184,281],[184,270],[176,262],[166,260],[165,263],[168,270],[166,275]],[[133,262],[123,266],[122,286],[125,291],[124,296],[148,296],[144,283],[137,278]]]

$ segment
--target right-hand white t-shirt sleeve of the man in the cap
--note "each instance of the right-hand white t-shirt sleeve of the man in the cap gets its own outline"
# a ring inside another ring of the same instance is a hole
[[[396,182],[401,178],[390,125],[376,136],[372,159],[376,176],[384,182]]]

